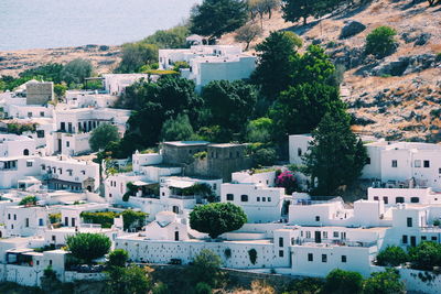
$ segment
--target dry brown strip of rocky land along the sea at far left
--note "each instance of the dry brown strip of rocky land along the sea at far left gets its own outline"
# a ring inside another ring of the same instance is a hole
[[[22,50],[0,52],[0,75],[19,73],[47,63],[68,63],[75,58],[89,59],[98,74],[110,73],[119,63],[120,46],[85,45],[79,47]]]

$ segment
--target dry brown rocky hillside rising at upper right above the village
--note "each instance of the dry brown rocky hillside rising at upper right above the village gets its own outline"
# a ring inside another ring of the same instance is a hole
[[[306,45],[326,47],[346,69],[342,94],[354,115],[354,130],[391,140],[441,141],[440,6],[376,0],[309,22],[286,23],[275,13],[263,21],[262,37],[273,30],[290,30]],[[365,56],[364,45],[366,35],[380,25],[397,31],[399,46],[392,55],[375,59]],[[222,42],[233,43],[234,34]]]

